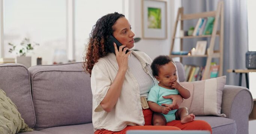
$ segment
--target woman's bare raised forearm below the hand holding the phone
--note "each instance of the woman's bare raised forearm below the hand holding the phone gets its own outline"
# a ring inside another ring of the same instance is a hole
[[[100,105],[106,112],[110,112],[115,106],[115,103],[117,103],[117,100],[121,94],[125,74],[126,70],[120,69],[117,71],[117,76],[115,76],[114,82],[109,87],[105,98],[102,100],[102,102],[100,102]]]

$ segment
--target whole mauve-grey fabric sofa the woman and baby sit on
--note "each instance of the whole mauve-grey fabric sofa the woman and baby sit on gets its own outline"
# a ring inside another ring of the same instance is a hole
[[[184,69],[177,62],[180,81]],[[21,134],[93,134],[90,77],[82,63],[26,68],[0,64],[0,87],[16,104],[29,127]],[[246,87],[225,85],[222,113],[228,118],[196,117],[209,122],[213,134],[248,134],[252,95]]]

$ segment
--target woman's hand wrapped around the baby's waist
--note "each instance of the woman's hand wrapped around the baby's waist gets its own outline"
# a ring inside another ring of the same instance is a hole
[[[172,100],[172,104],[165,104],[165,103],[162,104],[162,106],[169,107],[172,110],[179,109],[180,104],[182,103],[182,100],[183,100],[181,95],[168,95],[168,96],[163,96],[163,98]]]

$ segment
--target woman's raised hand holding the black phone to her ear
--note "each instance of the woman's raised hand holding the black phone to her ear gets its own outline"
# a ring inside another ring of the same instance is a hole
[[[126,45],[121,45],[119,47],[119,51],[117,50],[117,44],[114,43],[115,48],[115,56],[117,57],[117,64],[118,64],[118,70],[126,71],[128,68],[128,56],[132,53],[132,51],[129,51],[125,53],[129,48],[124,48]],[[124,50],[123,50],[124,48]]]

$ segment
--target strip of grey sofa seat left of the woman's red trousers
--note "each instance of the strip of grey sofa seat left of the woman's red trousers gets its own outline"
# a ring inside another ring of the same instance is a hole
[[[45,128],[40,131],[48,134],[94,134],[92,123]]]

